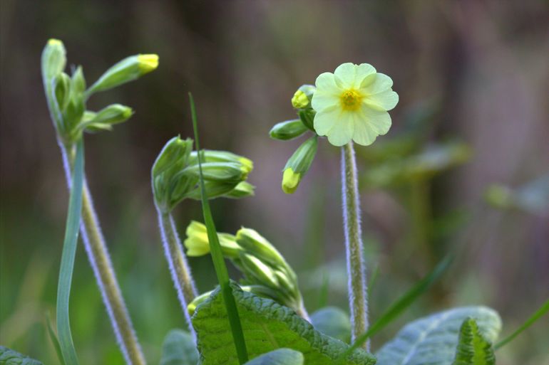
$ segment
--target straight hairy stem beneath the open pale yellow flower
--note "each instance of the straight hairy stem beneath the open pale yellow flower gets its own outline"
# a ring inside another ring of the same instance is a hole
[[[342,147],[342,199],[352,341],[368,329],[366,263],[360,228],[359,186],[353,142]],[[362,347],[369,350],[369,341]]]

